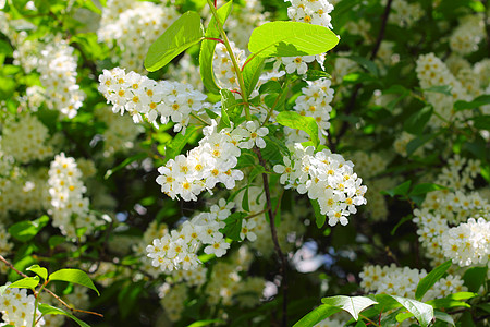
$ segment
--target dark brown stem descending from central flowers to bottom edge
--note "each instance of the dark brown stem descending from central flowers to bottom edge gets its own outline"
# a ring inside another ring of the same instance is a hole
[[[258,147],[254,148],[255,153],[258,156],[260,165],[266,168],[266,160],[262,158],[262,154],[260,153],[260,149]],[[282,276],[281,280],[281,287],[282,287],[282,327],[287,327],[287,261],[284,256],[284,253],[281,250],[281,245],[279,244],[278,239],[278,231],[275,230],[275,222],[274,217],[279,208],[279,201],[278,206],[274,211],[272,211],[272,201],[270,198],[270,189],[269,189],[269,179],[267,177],[267,173],[262,173],[262,182],[264,182],[264,191],[266,192],[266,199],[267,199],[267,207],[268,207],[268,214],[269,214],[269,226],[270,226],[270,232],[272,235],[272,242],[274,243],[274,250],[275,254],[278,255],[281,266],[279,269],[279,274]]]

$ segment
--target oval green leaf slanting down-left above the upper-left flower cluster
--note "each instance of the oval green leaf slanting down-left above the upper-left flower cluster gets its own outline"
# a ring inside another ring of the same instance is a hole
[[[204,38],[204,28],[198,13],[188,11],[173,22],[149,47],[145,58],[145,68],[155,72],[173,58],[199,43]]]

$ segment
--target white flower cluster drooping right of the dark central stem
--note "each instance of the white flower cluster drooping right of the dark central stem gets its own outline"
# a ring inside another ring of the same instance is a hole
[[[323,149],[314,154],[314,147],[294,145],[292,160],[284,157],[284,165],[275,165],[273,170],[281,173],[280,182],[286,189],[295,187],[298,193],[308,193],[317,199],[329,225],[347,225],[347,216],[357,211],[356,206],[366,204],[367,187],[353,171],[353,164],[338,154]]]

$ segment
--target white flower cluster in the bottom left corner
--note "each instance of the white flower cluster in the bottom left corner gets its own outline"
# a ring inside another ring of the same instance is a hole
[[[11,284],[10,282],[7,286]],[[2,313],[2,326],[34,326],[34,305],[36,299],[34,295],[27,295],[26,289],[7,288],[3,294],[0,294],[0,312]],[[40,316],[37,311],[36,316]],[[36,326],[45,325],[41,318]]]

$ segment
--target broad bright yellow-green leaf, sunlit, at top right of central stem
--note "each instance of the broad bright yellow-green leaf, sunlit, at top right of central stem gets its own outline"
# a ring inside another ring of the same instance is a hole
[[[339,37],[329,28],[299,22],[270,22],[250,35],[248,50],[267,57],[297,57],[320,55],[339,44]]]

